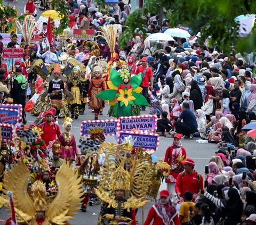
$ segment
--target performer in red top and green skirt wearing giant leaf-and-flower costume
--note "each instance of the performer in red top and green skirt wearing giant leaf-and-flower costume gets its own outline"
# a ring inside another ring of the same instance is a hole
[[[125,103],[123,103],[121,101],[123,91],[127,90],[127,93],[129,93],[129,89],[132,89],[132,86],[129,84],[129,81],[131,80],[131,74],[129,72],[124,73],[122,80],[123,80],[123,84],[118,86],[118,89],[116,92],[116,99],[115,99],[115,101],[116,101],[116,105],[115,105],[116,118],[118,118],[119,116],[131,116],[132,115],[132,104],[126,105]],[[122,90],[122,91],[120,91],[120,90]],[[125,94],[123,96],[125,98]],[[131,96],[131,97],[133,97],[133,96]],[[135,99],[134,97],[131,98],[131,100],[134,100],[134,99]]]

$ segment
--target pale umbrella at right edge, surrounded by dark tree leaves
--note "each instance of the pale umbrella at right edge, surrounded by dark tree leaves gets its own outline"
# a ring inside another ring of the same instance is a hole
[[[254,26],[255,14],[238,15],[235,21],[240,24],[238,36],[247,37]]]

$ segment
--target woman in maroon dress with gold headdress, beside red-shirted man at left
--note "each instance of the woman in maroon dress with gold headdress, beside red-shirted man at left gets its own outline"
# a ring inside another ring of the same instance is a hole
[[[69,161],[72,164],[78,154],[76,147],[75,136],[71,133],[72,124],[70,119],[66,119],[66,122],[62,125],[65,130],[60,136],[59,141],[61,144],[61,158]]]

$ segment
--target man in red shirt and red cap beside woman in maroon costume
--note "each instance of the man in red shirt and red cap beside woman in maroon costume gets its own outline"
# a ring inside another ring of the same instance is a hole
[[[46,122],[39,125],[39,128],[43,129],[44,133],[42,134],[42,139],[45,141],[47,147],[49,146],[50,141],[58,139],[58,137],[61,135],[59,125],[52,122],[53,116],[52,111],[47,111],[45,113]]]

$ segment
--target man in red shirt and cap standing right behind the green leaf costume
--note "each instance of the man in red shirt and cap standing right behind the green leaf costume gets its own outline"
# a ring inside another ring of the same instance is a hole
[[[142,57],[141,59],[141,66],[138,66],[135,74],[137,75],[138,73],[141,72],[141,84],[140,87],[142,87],[142,95],[147,99],[148,104],[150,104],[150,98],[148,96],[148,87],[149,87],[149,80],[150,80],[150,90],[153,90],[153,71],[152,69],[147,65],[147,58]],[[141,110],[145,111],[146,106],[143,105],[141,106]]]

